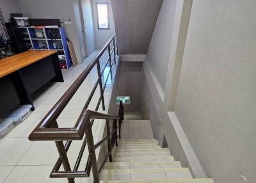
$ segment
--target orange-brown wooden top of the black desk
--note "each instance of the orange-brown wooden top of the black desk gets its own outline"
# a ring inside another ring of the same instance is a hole
[[[0,60],[0,77],[51,56],[57,51],[26,51]]]

